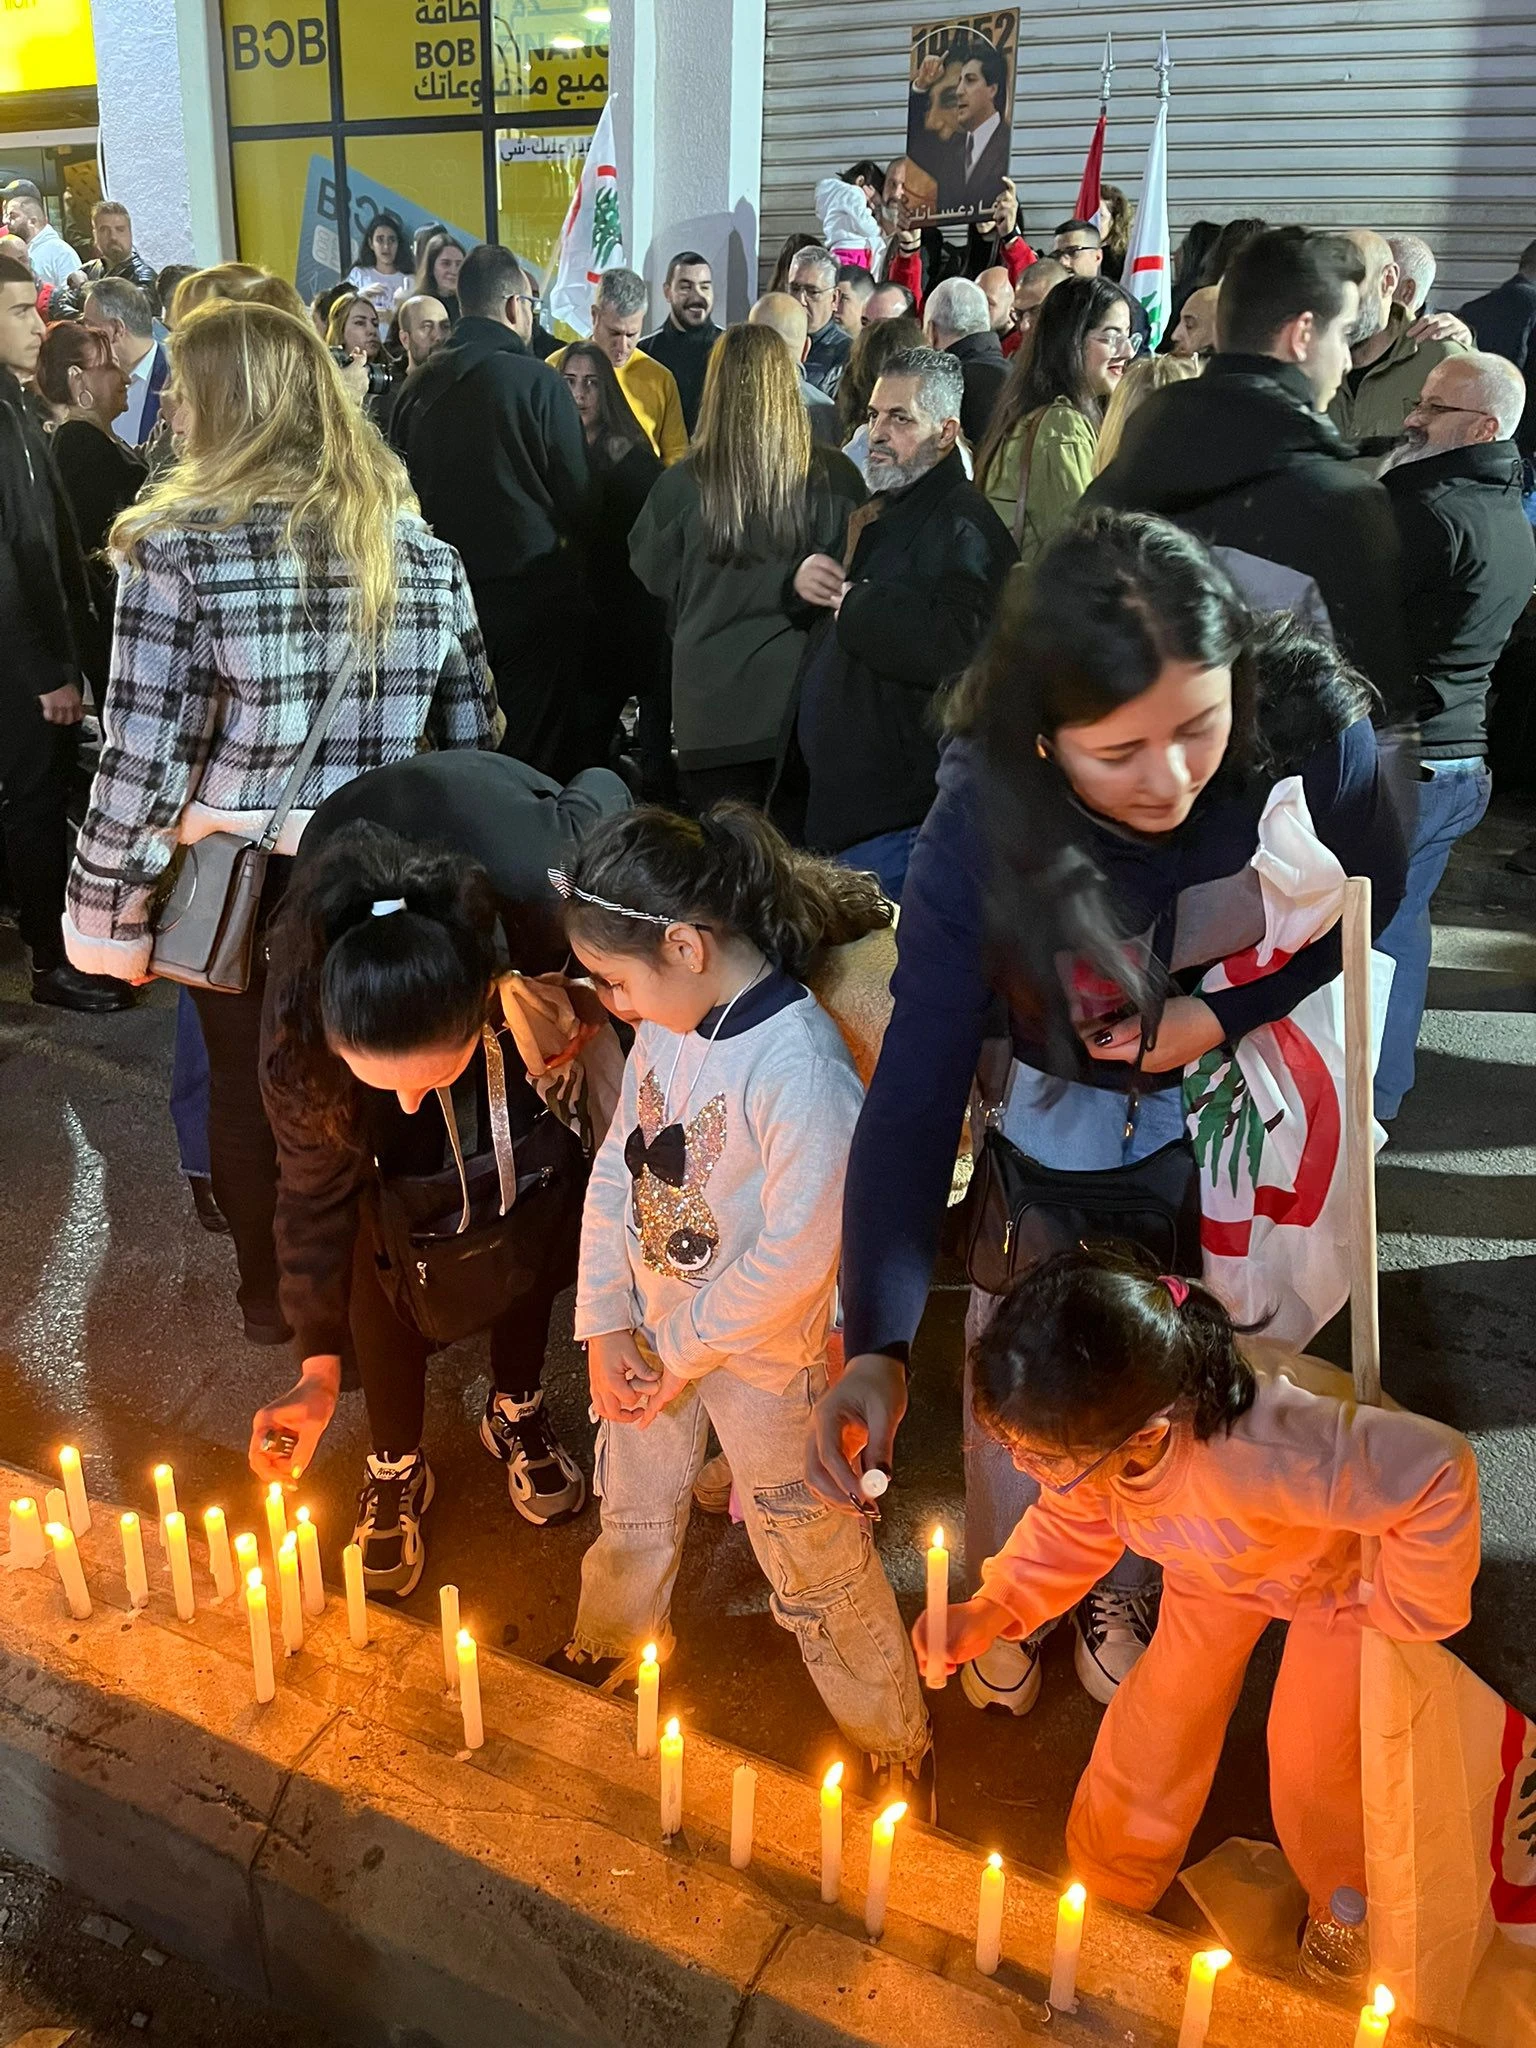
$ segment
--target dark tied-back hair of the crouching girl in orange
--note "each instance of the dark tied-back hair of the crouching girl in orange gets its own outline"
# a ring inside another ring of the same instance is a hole
[[[1001,1442],[1114,1450],[1184,1407],[1200,1442],[1253,1405],[1243,1331],[1198,1280],[1137,1245],[1079,1245],[1026,1274],[975,1354],[975,1413]]]

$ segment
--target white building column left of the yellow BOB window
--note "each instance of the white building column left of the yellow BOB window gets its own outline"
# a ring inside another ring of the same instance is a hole
[[[156,266],[236,252],[215,0],[94,0],[104,188]]]

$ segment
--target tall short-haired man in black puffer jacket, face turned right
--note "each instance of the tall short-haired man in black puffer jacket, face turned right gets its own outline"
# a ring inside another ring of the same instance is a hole
[[[1274,227],[1233,258],[1202,377],[1155,391],[1085,506],[1161,512],[1223,551],[1255,602],[1315,586],[1333,637],[1411,717],[1397,522],[1323,416],[1350,369],[1366,266],[1343,236]],[[1286,575],[1288,571],[1288,575]]]

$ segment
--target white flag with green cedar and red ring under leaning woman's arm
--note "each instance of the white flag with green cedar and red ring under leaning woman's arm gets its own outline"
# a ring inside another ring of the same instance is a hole
[[[1251,860],[1264,938],[1208,969],[1198,993],[1278,969],[1337,924],[1343,868],[1317,838],[1300,776],[1270,791]],[[1372,952],[1372,1061],[1393,963]],[[1343,1155],[1343,977],[1184,1071],[1200,1171],[1204,1278],[1239,1323],[1303,1350],[1350,1298]],[[1376,1145],[1384,1133],[1376,1128]]]

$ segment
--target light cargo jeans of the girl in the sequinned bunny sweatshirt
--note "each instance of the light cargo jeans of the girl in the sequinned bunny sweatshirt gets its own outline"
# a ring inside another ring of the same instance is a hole
[[[805,1432],[825,1384],[817,1366],[774,1395],[719,1366],[688,1380],[645,1430],[600,1423],[602,1530],[582,1559],[573,1638],[590,1657],[670,1640],[692,1487],[715,1423],[768,1606],[799,1638],[827,1712],[854,1749],[881,1763],[915,1763],[928,1751],[928,1714],[868,1522],[817,1501],[803,1477]]]

